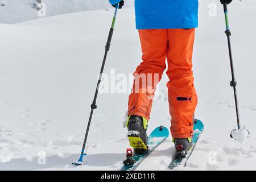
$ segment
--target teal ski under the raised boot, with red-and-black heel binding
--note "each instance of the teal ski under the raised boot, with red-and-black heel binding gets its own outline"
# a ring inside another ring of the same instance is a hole
[[[142,163],[144,159],[147,158],[148,155],[151,154],[152,151],[155,150],[166,138],[169,136],[169,130],[164,127],[160,126],[157,127],[152,133],[148,136],[148,151],[146,154],[143,155],[132,155],[132,150],[127,149],[127,155],[131,154],[130,159],[133,160],[135,163],[132,165],[125,165],[121,168],[121,171],[134,171],[139,164]]]

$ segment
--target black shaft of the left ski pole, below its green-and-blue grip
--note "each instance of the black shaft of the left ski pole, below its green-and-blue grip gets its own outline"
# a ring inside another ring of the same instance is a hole
[[[98,87],[100,86],[100,83],[101,83],[102,73],[104,71],[104,67],[105,67],[105,63],[106,63],[106,57],[108,55],[108,51],[109,51],[109,48],[110,48],[113,32],[114,32],[114,28],[110,28],[108,41],[107,41],[106,46],[105,46],[104,59],[102,61],[102,65],[101,65],[100,76],[98,78],[98,83],[97,83],[97,87],[96,87],[96,91],[95,91],[95,94],[94,94],[92,105],[90,105],[90,107],[91,107],[90,117],[89,117],[87,129],[86,129],[86,133],[85,133],[84,144],[82,144],[81,155],[84,154],[84,148],[85,148],[86,140],[87,140],[88,133],[89,133],[90,122],[92,121],[93,111],[94,111],[94,109],[97,109],[96,100],[97,100],[97,96],[98,96]]]

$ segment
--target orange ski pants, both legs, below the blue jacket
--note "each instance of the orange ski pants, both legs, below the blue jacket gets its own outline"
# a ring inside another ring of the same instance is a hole
[[[189,138],[197,94],[193,84],[192,53],[195,28],[139,30],[142,63],[134,72],[128,115],[150,119],[152,99],[168,63],[168,101],[172,138]]]

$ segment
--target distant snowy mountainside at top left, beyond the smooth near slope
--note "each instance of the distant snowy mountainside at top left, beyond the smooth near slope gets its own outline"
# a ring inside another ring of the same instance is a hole
[[[109,0],[39,0],[46,9],[36,10],[32,7],[37,0],[0,0],[0,23],[18,23],[79,11],[109,9]],[[126,7],[133,6],[127,1]],[[43,12],[42,12],[43,11]],[[43,16],[41,16],[43,15]]]

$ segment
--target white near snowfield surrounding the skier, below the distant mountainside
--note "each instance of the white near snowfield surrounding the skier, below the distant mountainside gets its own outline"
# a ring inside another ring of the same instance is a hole
[[[250,137],[238,143],[233,90],[222,6],[209,16],[200,1],[193,71],[199,96],[196,118],[205,129],[187,167],[179,170],[255,170],[255,34],[247,32],[256,6],[229,6],[241,125]],[[246,1],[247,3],[254,1]],[[250,4],[251,5],[251,4]],[[123,115],[129,93],[101,93],[90,127],[84,166],[79,159],[114,11],[96,10],[0,24],[0,169],[118,170],[129,147]],[[93,21],[92,21],[93,18]],[[105,73],[133,73],[141,61],[134,10],[118,11]],[[250,24],[251,30],[255,27]],[[167,76],[159,84],[148,133],[170,127]],[[129,88],[128,88],[129,89]],[[169,137],[138,170],[167,170],[175,148]]]

